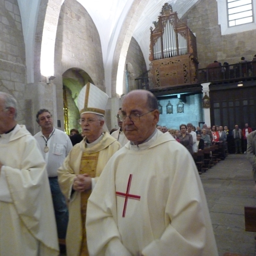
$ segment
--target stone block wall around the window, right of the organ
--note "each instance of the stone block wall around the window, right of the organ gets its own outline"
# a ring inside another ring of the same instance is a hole
[[[242,56],[251,61],[256,54],[256,30],[221,35],[215,0],[201,0],[182,17],[196,34],[199,68],[217,60],[234,64]]]

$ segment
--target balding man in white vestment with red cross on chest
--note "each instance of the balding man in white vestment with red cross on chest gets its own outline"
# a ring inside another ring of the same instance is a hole
[[[111,157],[87,204],[90,256],[218,256],[194,160],[155,128],[157,99],[131,91],[122,119],[131,143]]]

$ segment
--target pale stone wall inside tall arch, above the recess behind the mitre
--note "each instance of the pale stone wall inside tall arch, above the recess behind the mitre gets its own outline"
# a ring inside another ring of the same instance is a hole
[[[70,68],[84,70],[105,91],[99,33],[88,12],[76,0],[61,6],[55,41],[55,80],[58,119],[63,124],[62,75]]]

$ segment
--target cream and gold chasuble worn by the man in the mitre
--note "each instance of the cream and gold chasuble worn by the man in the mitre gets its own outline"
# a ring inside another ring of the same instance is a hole
[[[69,155],[58,169],[58,182],[61,191],[69,202],[69,222],[67,227],[67,256],[87,256],[85,218],[87,199],[91,190],[73,192],[72,186],[77,175],[88,174],[97,183],[99,175],[112,155],[121,145],[108,132],[95,145],[86,147],[85,140],[74,145]]]

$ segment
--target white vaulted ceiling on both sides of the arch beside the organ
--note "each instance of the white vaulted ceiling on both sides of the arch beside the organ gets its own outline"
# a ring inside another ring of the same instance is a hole
[[[97,29],[102,43],[103,61],[108,60],[110,44],[113,38],[119,34],[120,26],[125,20],[134,0],[77,0],[89,12]],[[172,5],[173,11],[182,17],[198,0],[148,0],[145,9],[140,16],[133,37],[142,49],[145,61],[149,64],[150,27],[157,20],[164,3]]]

